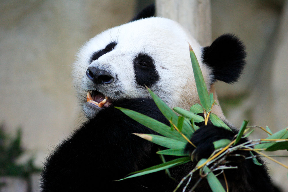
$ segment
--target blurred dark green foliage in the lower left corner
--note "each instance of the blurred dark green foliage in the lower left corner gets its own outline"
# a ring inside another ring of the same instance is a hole
[[[21,147],[21,129],[19,128],[15,138],[10,138],[4,132],[3,124],[0,126],[0,176],[21,176],[28,178],[32,172],[39,172],[33,165],[33,159],[25,164],[18,165],[16,159],[24,153]]]

